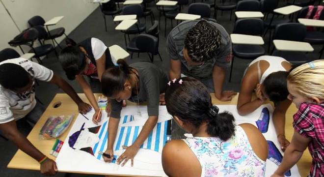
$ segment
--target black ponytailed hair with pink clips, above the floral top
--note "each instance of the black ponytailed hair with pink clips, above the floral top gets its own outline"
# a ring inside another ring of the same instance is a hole
[[[183,82],[179,81],[182,80]],[[226,141],[235,133],[235,119],[228,112],[218,113],[204,84],[185,77],[171,81],[165,91],[166,109],[172,116],[199,127],[207,123],[207,133]]]

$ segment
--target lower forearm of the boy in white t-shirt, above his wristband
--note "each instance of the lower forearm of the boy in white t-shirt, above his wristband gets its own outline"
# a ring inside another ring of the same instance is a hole
[[[39,161],[42,159],[45,155],[39,151],[37,148],[35,148],[28,140],[27,138],[22,135],[19,131],[15,133],[9,133],[6,134],[9,140],[11,140],[19,149],[21,149],[23,152],[27,153],[29,156],[34,158],[35,160]]]

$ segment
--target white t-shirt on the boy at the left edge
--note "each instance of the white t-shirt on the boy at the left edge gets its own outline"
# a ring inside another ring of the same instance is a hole
[[[33,61],[18,58],[0,62],[14,63],[22,66],[33,79],[49,82],[53,78],[53,71]],[[23,94],[5,89],[0,85],[0,123],[24,118],[36,105],[35,88]]]

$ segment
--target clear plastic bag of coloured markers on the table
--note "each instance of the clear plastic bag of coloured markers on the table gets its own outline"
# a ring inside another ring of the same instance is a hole
[[[39,131],[41,139],[51,139],[59,137],[70,126],[74,115],[51,116],[47,118],[43,127]]]

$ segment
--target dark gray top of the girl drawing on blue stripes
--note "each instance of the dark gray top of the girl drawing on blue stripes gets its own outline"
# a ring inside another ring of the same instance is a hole
[[[168,78],[162,69],[150,62],[136,62],[130,64],[138,72],[139,90],[138,100],[147,101],[149,116],[159,116],[160,94],[166,89]],[[137,95],[132,95],[129,101],[137,102]],[[110,117],[120,118],[122,102],[111,100]]]

